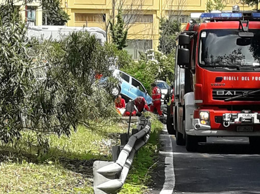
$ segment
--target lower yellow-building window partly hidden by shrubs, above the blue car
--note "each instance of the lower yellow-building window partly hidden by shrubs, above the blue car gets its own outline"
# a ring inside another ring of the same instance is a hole
[[[152,40],[127,40],[127,47],[124,48],[133,59],[139,59],[139,51],[146,51],[152,49]]]

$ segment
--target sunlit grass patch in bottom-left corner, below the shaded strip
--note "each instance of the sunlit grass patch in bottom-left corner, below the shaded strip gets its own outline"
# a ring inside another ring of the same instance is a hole
[[[92,193],[84,175],[64,169],[60,164],[1,163],[1,193]]]

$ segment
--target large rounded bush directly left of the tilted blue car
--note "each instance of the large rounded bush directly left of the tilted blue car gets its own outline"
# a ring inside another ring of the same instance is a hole
[[[36,91],[41,100],[34,105],[36,107],[31,107],[31,115],[40,115],[47,121],[41,125],[48,130],[55,126],[58,135],[70,135],[70,126],[76,130],[80,123],[92,126],[92,120],[116,116],[111,96],[96,86],[97,74],[111,76],[112,53],[100,46],[94,36],[80,31],[72,33],[60,44],[45,42],[45,45],[36,44],[33,48],[38,73],[45,79],[43,87]]]

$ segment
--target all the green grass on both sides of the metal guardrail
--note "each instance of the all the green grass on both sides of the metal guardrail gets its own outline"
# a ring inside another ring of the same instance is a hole
[[[152,125],[149,143],[139,150],[119,193],[147,191],[162,128],[159,121]],[[120,124],[95,131],[81,126],[70,138],[50,136],[48,153],[29,146],[32,134],[25,133],[15,147],[0,147],[0,193],[93,193],[93,161],[111,161],[111,146],[119,144],[119,134],[126,131],[127,125]]]

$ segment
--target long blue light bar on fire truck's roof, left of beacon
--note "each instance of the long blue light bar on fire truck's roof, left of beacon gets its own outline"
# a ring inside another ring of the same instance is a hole
[[[202,13],[200,19],[204,20],[240,20],[242,13]]]

